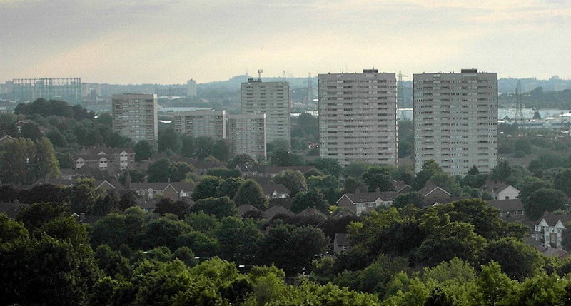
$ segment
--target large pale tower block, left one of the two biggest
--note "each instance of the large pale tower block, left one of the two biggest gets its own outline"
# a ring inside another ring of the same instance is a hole
[[[338,160],[396,165],[397,106],[395,73],[318,76],[319,154]]]

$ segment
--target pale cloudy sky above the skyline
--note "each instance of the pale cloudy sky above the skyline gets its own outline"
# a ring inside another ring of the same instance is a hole
[[[363,68],[571,78],[571,0],[0,0],[0,82]],[[404,80],[407,80],[405,77]]]

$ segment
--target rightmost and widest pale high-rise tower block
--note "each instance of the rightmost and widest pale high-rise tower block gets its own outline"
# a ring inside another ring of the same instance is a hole
[[[451,175],[497,165],[497,73],[413,75],[415,173],[435,160]]]

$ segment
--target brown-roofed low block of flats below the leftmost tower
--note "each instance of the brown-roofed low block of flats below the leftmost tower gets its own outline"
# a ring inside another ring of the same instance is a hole
[[[115,175],[121,170],[133,168],[135,153],[132,148],[105,148],[94,147],[84,149],[76,156],[76,170],[83,167],[108,170]]]

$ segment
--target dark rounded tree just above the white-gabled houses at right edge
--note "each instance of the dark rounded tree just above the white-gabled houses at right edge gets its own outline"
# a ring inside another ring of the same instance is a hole
[[[553,188],[540,188],[523,200],[525,215],[530,220],[537,220],[544,212],[563,209],[565,207],[565,195]]]

